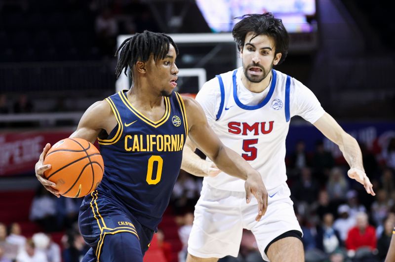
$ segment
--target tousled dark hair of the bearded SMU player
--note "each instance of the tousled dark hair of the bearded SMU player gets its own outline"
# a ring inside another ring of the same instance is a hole
[[[272,13],[264,14],[245,14],[236,17],[241,19],[233,28],[232,34],[236,41],[237,48],[241,50],[244,46],[245,36],[253,32],[251,40],[259,35],[272,37],[276,43],[276,53],[281,53],[281,59],[278,64],[285,60],[288,54],[289,36],[281,19],[277,19]]]

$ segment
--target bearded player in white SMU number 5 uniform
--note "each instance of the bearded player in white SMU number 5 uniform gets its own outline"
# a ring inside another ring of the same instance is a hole
[[[187,262],[237,257],[242,229],[252,231],[262,258],[304,262],[302,230],[286,184],[285,138],[298,115],[335,142],[350,165],[348,175],[375,195],[356,140],[321,107],[313,92],[273,66],[288,50],[288,34],[271,13],[244,15],[233,29],[243,66],[206,82],[196,100],[221,141],[258,170],[269,193],[266,214],[255,218],[255,199],[245,201],[243,181],[215,173],[211,163],[184,149],[182,168],[205,175],[188,242]],[[193,142],[193,141],[192,141]],[[247,197],[249,198],[249,197]]]

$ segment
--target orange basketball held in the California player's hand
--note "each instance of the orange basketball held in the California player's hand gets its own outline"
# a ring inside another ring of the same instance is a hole
[[[65,138],[54,144],[44,159],[51,169],[45,179],[65,197],[82,197],[97,187],[103,178],[104,164],[99,150],[82,138]]]

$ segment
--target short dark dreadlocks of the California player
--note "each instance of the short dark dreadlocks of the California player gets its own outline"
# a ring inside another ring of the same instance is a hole
[[[151,54],[154,56],[154,61],[158,58],[164,59],[169,52],[170,44],[174,46],[176,54],[178,54],[177,45],[169,36],[163,33],[145,30],[143,33],[137,33],[126,39],[115,52],[115,56],[118,56],[119,53],[115,75],[118,78],[122,70],[124,70],[126,75],[128,66],[132,69],[137,61],[148,61]]]

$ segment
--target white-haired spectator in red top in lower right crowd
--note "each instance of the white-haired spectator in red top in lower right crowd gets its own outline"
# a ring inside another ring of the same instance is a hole
[[[366,213],[356,215],[356,226],[350,229],[346,239],[346,248],[356,251],[361,247],[369,247],[375,250],[377,247],[376,230],[369,225]]]

